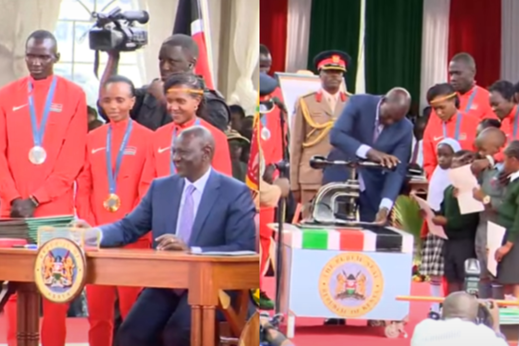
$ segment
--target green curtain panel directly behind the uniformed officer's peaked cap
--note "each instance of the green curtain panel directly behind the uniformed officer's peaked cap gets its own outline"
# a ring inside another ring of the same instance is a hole
[[[388,2],[390,2],[388,0]],[[351,57],[346,74],[354,92],[359,55],[361,0],[313,0],[308,43],[308,70],[317,72],[313,57],[324,50],[342,50]]]

